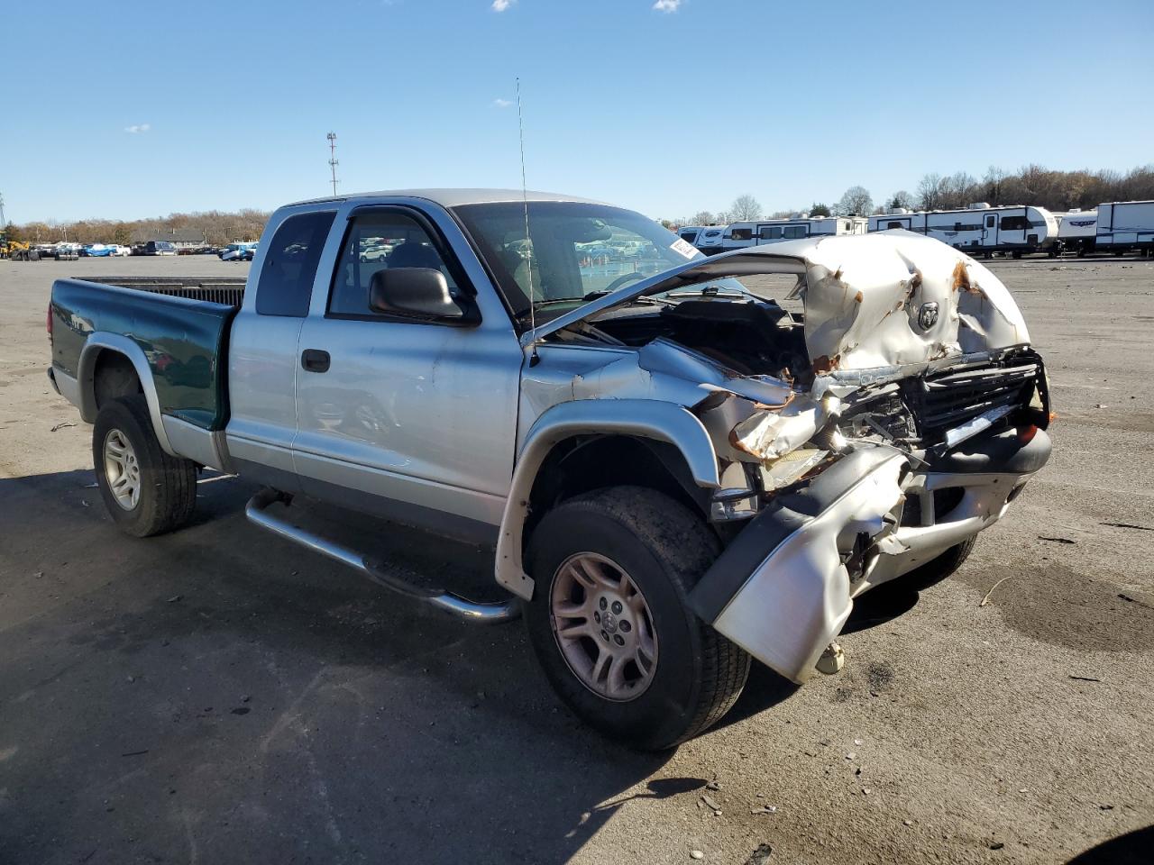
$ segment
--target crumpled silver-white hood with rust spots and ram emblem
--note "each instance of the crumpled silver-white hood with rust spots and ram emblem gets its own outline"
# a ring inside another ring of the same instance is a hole
[[[642,295],[763,273],[805,276],[797,292],[805,304],[805,346],[818,374],[904,367],[1029,343],[1018,304],[989,269],[938,240],[897,230],[695,258],[554,318],[522,343]]]

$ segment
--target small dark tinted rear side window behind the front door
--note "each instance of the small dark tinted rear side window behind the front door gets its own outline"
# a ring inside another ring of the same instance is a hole
[[[313,295],[316,263],[329,236],[335,213],[316,212],[288,217],[277,228],[256,283],[256,311],[304,318]]]

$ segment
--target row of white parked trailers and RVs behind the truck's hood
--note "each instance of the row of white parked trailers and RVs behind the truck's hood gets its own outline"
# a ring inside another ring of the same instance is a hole
[[[758,219],[729,225],[688,225],[682,240],[712,255],[785,240],[904,228],[969,254],[1025,253],[1092,255],[1139,253],[1154,256],[1154,201],[1099,204],[1095,210],[1052,213],[1031,205],[971,204],[964,210],[908,211],[871,217],[839,216]]]

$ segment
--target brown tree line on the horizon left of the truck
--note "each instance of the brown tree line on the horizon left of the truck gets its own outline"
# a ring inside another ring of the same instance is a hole
[[[260,240],[269,211],[245,209],[235,212],[209,210],[196,213],[170,213],[150,219],[78,219],[75,221],[47,221],[8,224],[8,236],[32,243],[55,243],[67,240],[74,243],[122,243],[134,240],[170,236],[174,231],[198,235],[210,246],[224,246],[237,241]]]

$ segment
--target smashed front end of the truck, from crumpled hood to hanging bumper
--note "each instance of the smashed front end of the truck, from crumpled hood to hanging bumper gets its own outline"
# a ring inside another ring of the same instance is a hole
[[[572,399],[669,399],[700,420],[726,546],[690,606],[804,682],[854,597],[1005,513],[1049,458],[1050,406],[1017,304],[964,254],[907,232],[771,249],[694,262],[561,328],[639,346],[575,376]],[[803,315],[710,291],[759,273],[796,274]],[[625,311],[702,284],[645,326]]]

